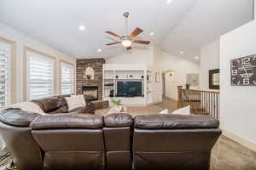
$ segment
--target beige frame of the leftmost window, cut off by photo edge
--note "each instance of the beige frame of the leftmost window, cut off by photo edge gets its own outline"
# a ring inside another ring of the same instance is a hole
[[[0,37],[0,41],[10,46],[10,62],[9,62],[9,104],[16,102],[16,42],[5,37]],[[7,105],[9,105],[7,104]]]

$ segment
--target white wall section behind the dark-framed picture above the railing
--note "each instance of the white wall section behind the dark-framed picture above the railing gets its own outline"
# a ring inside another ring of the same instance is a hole
[[[219,68],[219,39],[201,48],[200,85],[209,89],[209,70]]]

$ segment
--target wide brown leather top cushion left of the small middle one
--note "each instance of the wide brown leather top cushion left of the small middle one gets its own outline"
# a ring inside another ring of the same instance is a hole
[[[102,128],[103,118],[91,114],[55,114],[38,116],[31,124],[32,129],[51,128]]]

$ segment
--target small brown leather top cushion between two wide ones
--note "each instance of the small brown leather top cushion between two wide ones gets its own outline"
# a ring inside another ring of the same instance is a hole
[[[131,127],[133,118],[127,113],[113,113],[104,117],[106,127]]]

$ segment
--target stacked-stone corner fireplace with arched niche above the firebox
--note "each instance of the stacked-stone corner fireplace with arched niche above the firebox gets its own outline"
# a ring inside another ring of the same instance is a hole
[[[102,69],[105,59],[77,59],[76,92],[91,100],[102,99]],[[86,77],[86,69],[94,70],[94,77]]]

